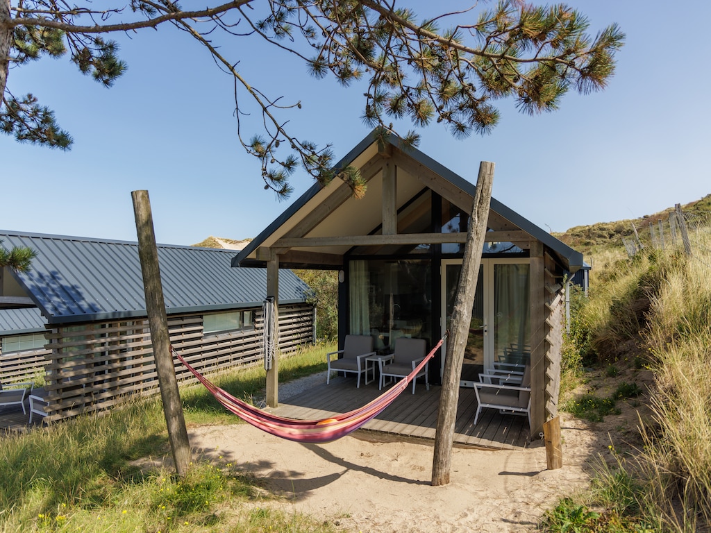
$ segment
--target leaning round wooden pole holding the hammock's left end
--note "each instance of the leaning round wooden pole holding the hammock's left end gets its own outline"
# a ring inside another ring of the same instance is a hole
[[[153,229],[151,202],[147,190],[134,190],[131,196],[138,233],[138,254],[146,293],[146,311],[148,311],[148,322],[151,328],[151,344],[156,360],[163,412],[168,425],[168,438],[173,451],[176,472],[182,478],[188,473],[190,465],[190,442],[183,416],[183,404],[180,392],[178,392],[178,380],[175,367],[173,367],[173,356],[171,355],[168,318],[166,317],[161,273],[158,266],[158,248]]]

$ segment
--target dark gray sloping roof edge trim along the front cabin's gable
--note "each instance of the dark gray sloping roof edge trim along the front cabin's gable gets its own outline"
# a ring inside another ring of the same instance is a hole
[[[370,145],[377,141],[378,138],[375,135],[375,130],[373,130],[370,132],[370,134],[365,136],[365,139],[360,141],[360,143],[358,143],[355,148],[348,152],[348,154],[343,157],[341,161],[338,161],[338,163],[336,163],[333,168],[336,169],[336,171],[341,168],[346,168],[355,160],[355,158],[357,158],[366,149],[368,149]],[[437,161],[425,155],[421,151],[410,147],[405,147],[402,144],[400,138],[398,138],[397,136],[391,135],[387,138],[387,141],[390,142],[392,146],[395,146],[398,149],[404,151],[407,156],[412,157],[415,161],[417,161],[417,163],[426,166],[431,171],[437,173],[439,176],[449,181],[449,183],[456,185],[456,187],[463,190],[465,193],[474,198],[474,195],[476,193],[476,185],[474,185],[474,183],[466,181],[464,178],[459,176],[459,174],[456,174],[453,171],[449,170],[449,168],[445,167],[441,163],[438,163]],[[306,203],[311,200],[311,198],[314,198],[314,196],[319,193],[319,190],[321,190],[321,188],[322,185],[320,183],[314,183],[314,185],[312,185],[309,190],[306,190],[306,193],[301,195],[301,197],[299,197],[292,205],[290,205],[287,210],[282,212],[282,214],[279,215],[279,217],[277,217],[277,219],[274,220],[272,224],[270,224],[266,229],[264,229],[264,231],[262,231],[260,235],[258,235],[255,239],[252,239],[252,242],[247,244],[247,246],[242,249],[242,251],[239,252],[234,257],[234,259],[232,259],[232,266],[240,266],[242,262],[244,262],[244,264],[254,264],[255,262],[250,262],[250,260],[247,259],[248,257],[250,257],[250,254],[252,254],[252,252],[254,252],[257,247],[260,247],[264,240],[267,239],[269,235],[272,235],[272,233],[274,233],[274,231],[276,231],[279,226],[284,224],[284,222],[287,222],[287,220],[289,220],[292,215],[294,215],[297,211],[303,208],[304,205],[306,205]],[[503,203],[496,200],[496,198],[491,198],[491,210],[493,212],[496,212],[498,215],[501,215],[502,217],[506,218],[506,220],[512,222],[515,226],[527,232],[529,235],[532,235],[540,242],[545,244],[547,247],[549,247],[551,251],[558,257],[565,269],[567,269],[568,271],[577,271],[582,266],[583,257],[580,252],[577,252],[564,242],[556,239],[555,237],[550,235],[550,233],[533,224],[533,222],[530,222],[530,220],[527,220],[523,216],[519,215],[518,212],[515,212],[514,210],[506,207],[506,205],[503,205]]]

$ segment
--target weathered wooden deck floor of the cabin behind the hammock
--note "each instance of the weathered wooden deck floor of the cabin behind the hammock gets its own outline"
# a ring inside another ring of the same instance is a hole
[[[429,391],[417,384],[402,392],[385,411],[368,421],[363,429],[397,436],[434,439],[441,387],[432,385]],[[317,387],[282,399],[274,414],[295,419],[325,419],[336,413],[346,413],[378,397],[378,383],[360,384],[355,378],[337,377],[331,384]],[[474,389],[459,389],[454,443],[481,448],[512,449],[528,446],[528,420],[525,416],[499,414],[485,409],[474,426],[476,395]]]

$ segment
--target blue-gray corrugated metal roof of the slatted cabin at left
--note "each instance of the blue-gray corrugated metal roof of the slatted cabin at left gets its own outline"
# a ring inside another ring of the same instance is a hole
[[[5,247],[38,252],[31,271],[13,272],[49,323],[146,316],[137,242],[1,232]],[[201,313],[261,306],[265,269],[232,269],[234,250],[158,245],[166,312]],[[292,271],[279,275],[279,303],[305,301]]]

